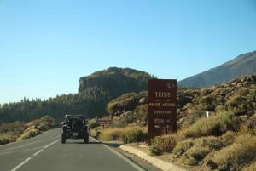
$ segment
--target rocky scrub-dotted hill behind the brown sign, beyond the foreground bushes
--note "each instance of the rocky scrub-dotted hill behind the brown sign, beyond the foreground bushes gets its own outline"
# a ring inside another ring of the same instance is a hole
[[[147,123],[148,92],[123,94],[107,105],[108,114],[116,123]],[[206,111],[232,111],[237,116],[253,115],[256,110],[256,75],[247,75],[210,88],[177,89],[177,124],[185,128]],[[241,117],[246,121],[247,117]],[[256,122],[256,121],[255,121]],[[254,123],[256,124],[256,123]]]

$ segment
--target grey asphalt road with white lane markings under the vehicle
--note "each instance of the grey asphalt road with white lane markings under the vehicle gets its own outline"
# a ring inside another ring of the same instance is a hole
[[[35,138],[0,145],[1,171],[135,171],[158,170],[136,157],[90,138],[61,144],[61,128]]]

